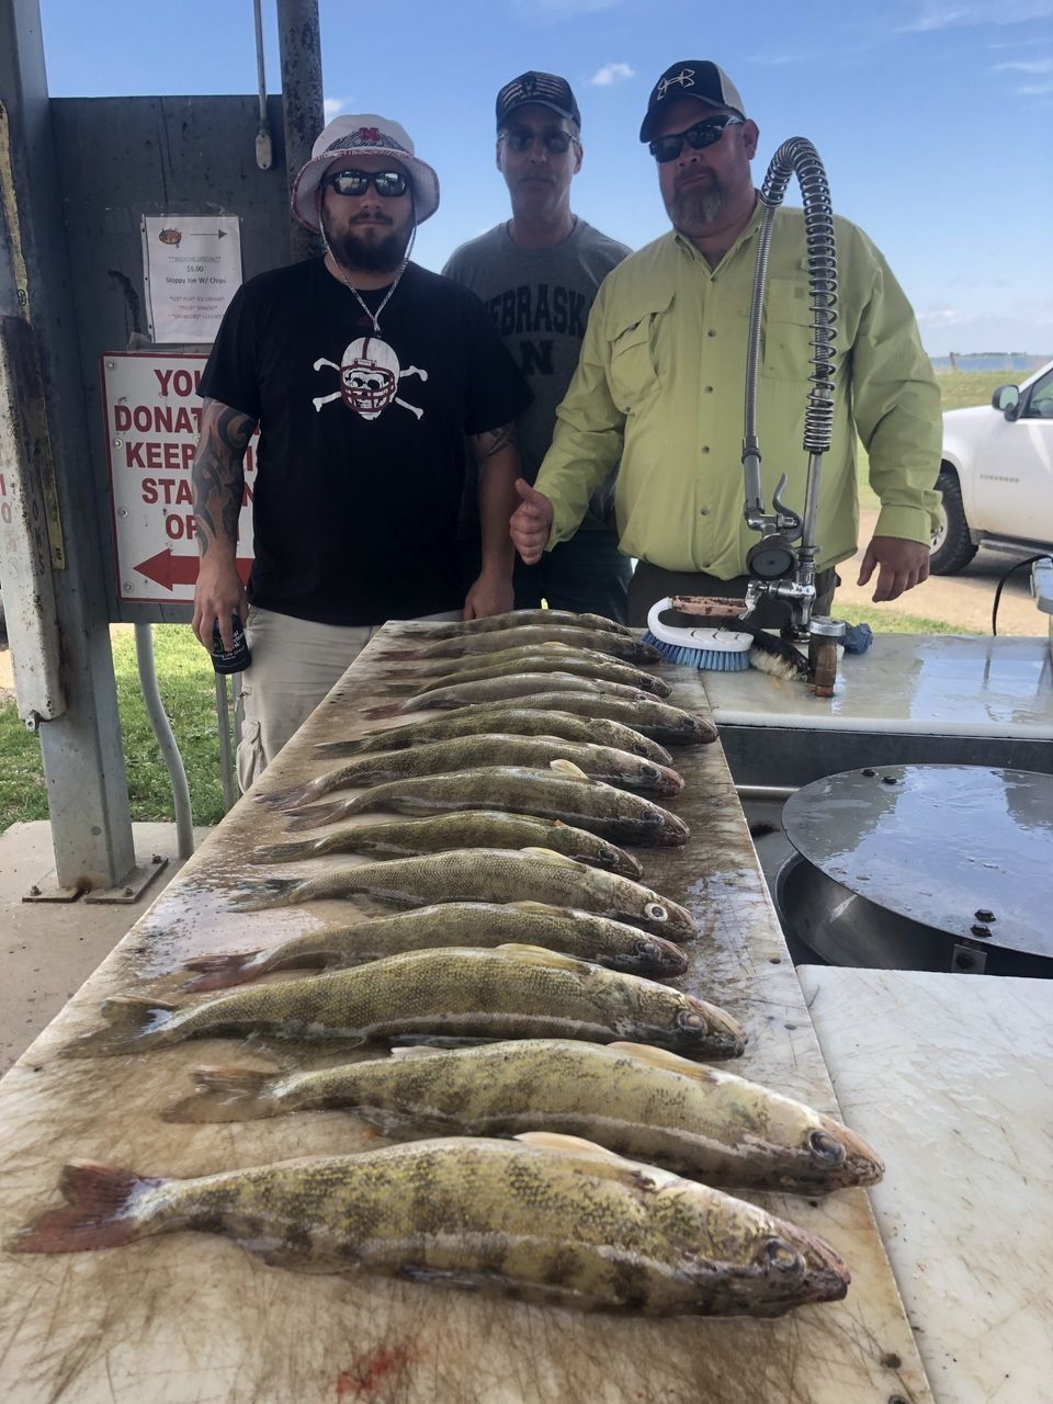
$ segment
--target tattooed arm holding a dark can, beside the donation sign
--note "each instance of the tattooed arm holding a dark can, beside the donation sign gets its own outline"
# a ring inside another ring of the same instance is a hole
[[[244,623],[249,612],[244,585],[237,574],[237,518],[244,496],[244,451],[256,424],[240,410],[219,400],[205,400],[201,439],[194,459],[194,512],[197,517],[198,583],[194,587],[194,633],[212,651],[212,625],[219,621],[223,644],[233,647],[230,615]]]

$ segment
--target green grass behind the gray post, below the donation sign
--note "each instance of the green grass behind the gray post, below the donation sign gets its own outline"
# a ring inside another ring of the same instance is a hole
[[[156,625],[157,682],[190,783],[195,824],[223,817],[212,664],[185,625]],[[168,772],[142,699],[131,629],[114,635],[114,673],[132,820],[171,820]],[[20,820],[46,819],[41,746],[18,720],[14,702],[0,706],[0,831]]]

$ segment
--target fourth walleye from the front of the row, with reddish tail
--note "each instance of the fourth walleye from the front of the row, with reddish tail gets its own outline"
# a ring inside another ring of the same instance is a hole
[[[195,956],[187,962],[187,969],[204,973],[185,988],[195,993],[227,990],[271,970],[345,969],[409,951],[504,945],[559,951],[608,970],[654,980],[670,980],[688,967],[681,948],[664,936],[591,911],[546,907],[541,901],[445,901],[352,925],[307,931],[270,951]]]

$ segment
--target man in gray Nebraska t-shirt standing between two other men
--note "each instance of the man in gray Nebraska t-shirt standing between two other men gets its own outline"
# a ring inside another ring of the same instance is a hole
[[[534,390],[515,421],[522,476],[532,483],[552,442],[556,406],[577,366],[597,289],[629,250],[570,209],[583,150],[581,115],[567,80],[521,73],[497,94],[496,115],[497,168],[512,218],[462,244],[444,272],[483,299]],[[594,494],[574,536],[534,566],[517,563],[517,608],[536,608],[545,598],[553,609],[625,619],[632,566],[618,550],[612,522],[615,473]],[[479,517],[470,490],[462,529],[472,576]]]

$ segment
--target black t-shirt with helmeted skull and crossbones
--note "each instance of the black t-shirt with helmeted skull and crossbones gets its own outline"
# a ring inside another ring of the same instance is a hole
[[[386,289],[364,292],[376,312]],[[201,395],[260,424],[253,604],[365,625],[458,609],[465,434],[531,392],[483,303],[410,264],[380,333],[320,258],[234,295]]]

